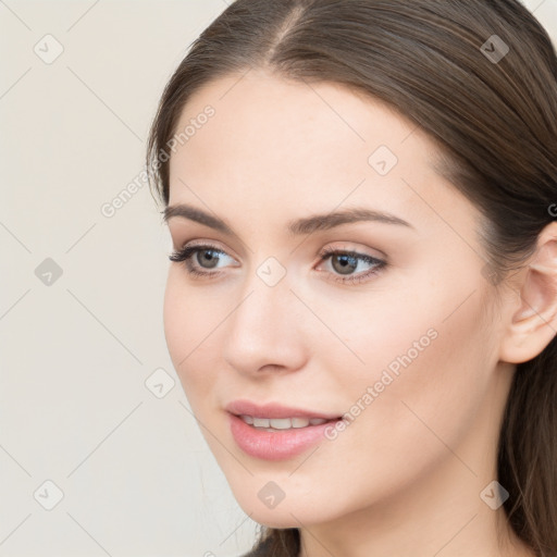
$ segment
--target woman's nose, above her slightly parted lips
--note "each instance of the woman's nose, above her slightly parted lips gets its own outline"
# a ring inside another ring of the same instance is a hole
[[[258,377],[301,369],[309,350],[304,332],[308,310],[286,278],[269,286],[255,275],[238,300],[224,331],[226,363]]]

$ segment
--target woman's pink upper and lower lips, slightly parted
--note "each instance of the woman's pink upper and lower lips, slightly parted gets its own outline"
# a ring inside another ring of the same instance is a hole
[[[228,406],[230,426],[234,441],[246,454],[263,460],[285,460],[304,453],[311,445],[323,441],[326,428],[338,420],[338,416],[288,408],[277,404],[256,405],[248,400],[236,400]],[[320,418],[330,420],[319,425],[265,431],[248,425],[239,416],[253,418]]]

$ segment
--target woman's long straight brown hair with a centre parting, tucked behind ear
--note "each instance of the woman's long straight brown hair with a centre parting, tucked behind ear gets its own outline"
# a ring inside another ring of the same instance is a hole
[[[209,82],[250,67],[343,84],[429,134],[445,157],[444,174],[485,216],[494,285],[525,261],[552,222],[557,57],[518,0],[237,0],[194,42],[162,95],[147,161],[165,205],[169,164],[161,153],[184,106]],[[517,366],[498,481],[509,492],[505,511],[516,534],[537,556],[555,556],[556,338]],[[297,556],[299,531],[263,528],[263,545],[264,555]]]

